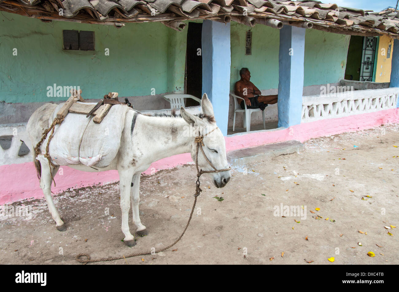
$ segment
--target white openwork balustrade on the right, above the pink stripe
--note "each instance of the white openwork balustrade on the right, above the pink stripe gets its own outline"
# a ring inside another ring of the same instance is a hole
[[[399,88],[368,89],[302,97],[302,123],[396,108]]]

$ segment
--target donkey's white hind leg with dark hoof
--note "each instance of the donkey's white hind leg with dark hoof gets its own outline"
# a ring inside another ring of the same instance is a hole
[[[42,161],[40,162],[41,164],[40,188],[43,190],[51,217],[53,217],[56,223],[55,228],[57,228],[58,231],[65,231],[67,230],[67,228],[65,227],[64,222],[61,220],[61,218],[59,218],[59,213],[57,211],[57,208],[55,208],[53,197],[51,196],[51,183],[53,182],[53,180],[51,180],[49,165],[46,162]],[[59,166],[55,167],[51,166],[53,177],[57,173],[58,169]]]

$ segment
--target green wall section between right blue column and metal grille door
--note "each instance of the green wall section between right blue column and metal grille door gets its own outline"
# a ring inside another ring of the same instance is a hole
[[[343,79],[349,40],[350,35],[306,29],[303,85],[335,83]]]

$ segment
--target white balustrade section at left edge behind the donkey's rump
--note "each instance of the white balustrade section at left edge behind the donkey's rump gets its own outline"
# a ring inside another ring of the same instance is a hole
[[[14,163],[25,163],[33,161],[32,153],[19,156],[22,141],[28,147],[31,147],[28,133],[26,132],[26,123],[0,125],[0,139],[2,136],[12,136],[11,145],[8,149],[0,147],[0,165],[9,165]]]

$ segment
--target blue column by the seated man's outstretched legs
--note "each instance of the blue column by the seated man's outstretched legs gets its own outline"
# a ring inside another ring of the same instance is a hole
[[[280,29],[278,127],[301,122],[305,31],[289,25]]]

